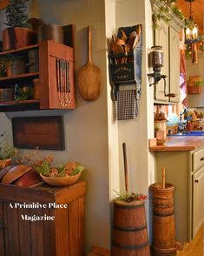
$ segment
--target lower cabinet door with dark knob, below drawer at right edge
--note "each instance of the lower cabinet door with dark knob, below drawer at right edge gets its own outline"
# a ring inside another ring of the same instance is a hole
[[[193,176],[193,239],[204,221],[204,166]]]

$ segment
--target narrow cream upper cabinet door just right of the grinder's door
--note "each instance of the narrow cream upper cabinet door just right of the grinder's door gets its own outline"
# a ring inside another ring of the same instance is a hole
[[[180,38],[179,33],[169,27],[169,93],[174,93],[175,98],[170,102],[180,101]]]

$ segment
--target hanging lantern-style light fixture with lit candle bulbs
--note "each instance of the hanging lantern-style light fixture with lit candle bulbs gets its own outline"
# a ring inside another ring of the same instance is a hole
[[[199,42],[200,39],[198,37],[198,26],[197,24],[194,24],[193,16],[192,16],[192,3],[194,0],[185,0],[189,3],[189,17],[186,20],[186,29],[185,29],[185,43],[186,44],[193,44],[196,42]]]

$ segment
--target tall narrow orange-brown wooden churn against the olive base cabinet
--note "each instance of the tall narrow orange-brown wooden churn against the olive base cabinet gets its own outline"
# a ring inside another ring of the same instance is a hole
[[[174,185],[151,185],[153,195],[153,255],[176,255]]]

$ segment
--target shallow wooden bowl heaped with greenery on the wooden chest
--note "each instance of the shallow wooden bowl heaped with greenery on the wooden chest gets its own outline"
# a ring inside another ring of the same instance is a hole
[[[63,185],[71,185],[76,182],[82,175],[82,172],[79,172],[78,174],[74,176],[66,176],[66,177],[48,177],[40,174],[41,178],[45,183],[48,183],[49,185],[55,185],[55,186],[63,186]]]

